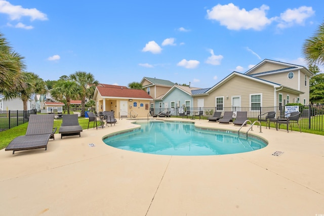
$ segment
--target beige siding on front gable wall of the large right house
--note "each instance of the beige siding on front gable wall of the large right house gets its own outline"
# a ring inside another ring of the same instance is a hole
[[[209,96],[195,97],[194,104],[198,98],[204,98],[205,107],[215,107],[216,97],[224,97],[224,107],[232,106],[232,98],[240,97],[241,107],[250,107],[250,94],[262,94],[262,106],[273,106],[274,88],[258,81],[244,77],[233,76],[226,83],[210,93]],[[226,99],[228,96],[228,99]]]

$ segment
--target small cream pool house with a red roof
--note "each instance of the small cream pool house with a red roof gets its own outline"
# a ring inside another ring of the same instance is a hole
[[[115,118],[147,117],[152,99],[143,90],[110,84],[99,84],[93,96],[96,111],[114,111]]]

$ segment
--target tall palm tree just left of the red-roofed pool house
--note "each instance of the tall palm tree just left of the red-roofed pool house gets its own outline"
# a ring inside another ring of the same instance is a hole
[[[98,81],[95,80],[95,77],[91,73],[84,71],[76,71],[70,75],[70,78],[74,80],[80,88],[80,99],[81,99],[81,116],[85,116],[86,110],[86,98],[92,98],[95,92]]]

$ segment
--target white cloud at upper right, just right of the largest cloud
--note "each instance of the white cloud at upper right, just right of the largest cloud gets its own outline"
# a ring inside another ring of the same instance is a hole
[[[280,14],[279,28],[291,27],[295,24],[304,25],[305,20],[315,14],[312,7],[301,6],[299,8],[287,9],[284,13]]]

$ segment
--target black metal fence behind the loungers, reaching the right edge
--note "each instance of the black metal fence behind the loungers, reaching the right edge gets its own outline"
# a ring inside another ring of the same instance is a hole
[[[182,108],[183,109],[183,108]],[[164,110],[168,110],[171,112],[173,116],[182,117],[179,113],[179,108],[157,108],[153,111],[151,110],[151,114],[158,114],[159,112],[162,112]],[[190,111],[190,116],[196,115],[200,110],[203,110],[203,115],[200,116],[201,118],[208,118],[214,115],[215,111],[222,112],[222,114],[225,111],[246,111],[248,112],[248,118],[253,122],[258,119],[258,116],[270,112],[275,111],[276,117],[285,115],[285,106],[276,106],[276,107],[190,107],[187,108],[185,111]],[[304,129],[311,129],[313,131],[323,131],[323,114],[324,114],[324,106],[323,105],[307,105],[307,106],[300,106],[299,111],[301,112],[299,124],[301,128]],[[293,125],[296,126],[297,125]]]

